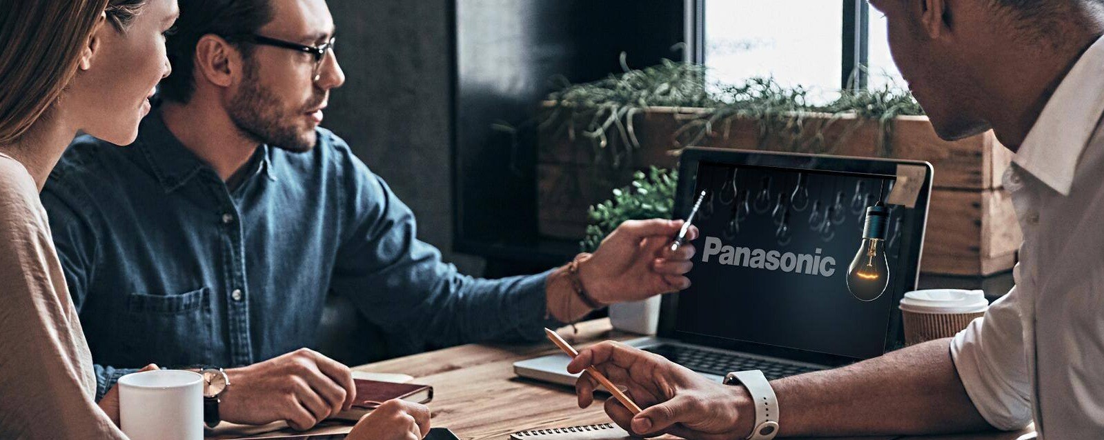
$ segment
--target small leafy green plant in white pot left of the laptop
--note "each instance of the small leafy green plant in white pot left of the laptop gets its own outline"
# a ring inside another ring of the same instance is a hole
[[[677,182],[678,171],[673,170],[651,167],[647,174],[634,173],[629,186],[614,190],[613,198],[591,206],[591,224],[580,247],[584,253],[594,251],[625,221],[669,218],[675,208]]]

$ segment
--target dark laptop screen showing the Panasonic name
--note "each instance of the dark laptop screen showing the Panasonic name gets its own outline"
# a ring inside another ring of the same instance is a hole
[[[848,268],[860,253],[867,207],[889,195],[894,179],[699,162],[692,198],[703,190],[707,196],[694,219],[701,234],[692,242],[692,285],[677,297],[673,336],[881,355],[900,290],[915,281],[913,275],[892,282],[910,273],[899,254],[909,227],[902,218],[912,210],[888,206],[882,250],[891,282],[882,294],[852,294]]]

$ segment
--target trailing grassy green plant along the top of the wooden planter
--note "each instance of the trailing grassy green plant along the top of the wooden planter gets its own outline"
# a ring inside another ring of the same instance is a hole
[[[824,132],[847,115],[874,120],[881,129],[879,143],[883,155],[892,148],[893,118],[923,115],[923,109],[906,90],[884,86],[879,89],[842,89],[840,97],[828,105],[809,101],[809,92],[802,86],[785,87],[774,78],[753,77],[742,84],[707,85],[707,67],[694,63],[664,60],[643,69],[629,69],[622,54],[619,75],[585,84],[564,82],[560,90],[549,95],[551,105],[539,117],[541,130],[554,130],[553,137],[578,136],[590,140],[596,162],[608,152],[611,164],[619,167],[640,142],[634,130],[634,116],[648,107],[699,108],[686,117],[676,132],[679,146],[694,144],[710,136],[728,136],[736,118],[758,124],[758,143],[774,144],[786,151],[822,153],[834,146],[826,144]],[[828,115],[806,124],[809,116]],[[845,131],[846,132],[846,131]],[[846,138],[846,136],[843,137]]]

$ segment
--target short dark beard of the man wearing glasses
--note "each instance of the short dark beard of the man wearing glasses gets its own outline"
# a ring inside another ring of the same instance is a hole
[[[287,115],[283,111],[283,103],[261,84],[257,71],[253,62],[245,63],[242,88],[227,106],[230,119],[238,130],[257,142],[293,152],[310,151],[318,141],[318,135],[312,128],[299,126],[299,120],[307,109],[318,107],[326,99],[325,95],[311,99],[302,111]]]

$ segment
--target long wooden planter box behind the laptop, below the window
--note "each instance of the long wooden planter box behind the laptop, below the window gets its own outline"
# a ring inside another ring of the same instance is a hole
[[[606,149],[595,151],[587,139],[572,141],[551,130],[541,132],[537,165],[540,233],[582,238],[588,207],[608,200],[613,189],[631,182],[634,171],[676,165],[677,150],[688,140],[684,131],[679,139],[677,133],[702,112],[656,107],[636,115],[639,149],[612,141]],[[895,119],[891,148],[884,149],[879,141],[881,129],[874,121],[810,115],[804,124],[805,132],[810,135],[799,139],[814,146],[813,152],[932,163],[935,178],[921,271],[989,275],[1012,267],[1022,237],[1011,201],[1000,186],[1011,152],[991,132],[948,142],[935,135],[927,117],[905,116]],[[811,136],[818,131],[824,132],[820,142]],[[711,136],[694,144],[790,151],[790,143],[789,139],[761,137],[756,120],[732,119],[714,126]],[[620,167],[612,165],[611,152],[622,154]]]

